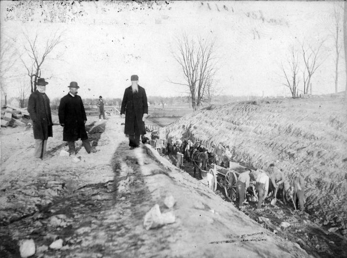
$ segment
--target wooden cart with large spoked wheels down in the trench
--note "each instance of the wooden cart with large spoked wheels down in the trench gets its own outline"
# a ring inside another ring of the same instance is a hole
[[[230,162],[229,168],[223,168],[216,164],[208,165],[208,171],[201,170],[201,183],[205,184],[213,192],[217,189],[217,184],[224,188],[225,196],[230,201],[236,201],[238,195],[237,181],[240,173],[245,172],[246,167]]]

